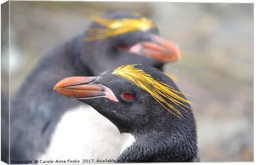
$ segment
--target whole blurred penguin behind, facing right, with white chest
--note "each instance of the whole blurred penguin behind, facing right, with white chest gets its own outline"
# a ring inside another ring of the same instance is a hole
[[[61,158],[67,158],[66,155],[74,153],[72,150],[58,149],[58,146],[55,146],[52,141],[56,141],[54,139],[58,136],[54,136],[57,135],[58,132],[61,132],[56,129],[60,128],[63,130],[61,125],[66,125],[62,123],[58,125],[60,121],[73,122],[67,120],[69,119],[69,117],[65,115],[67,112],[70,112],[67,113],[67,115],[71,115],[72,117],[73,114],[75,114],[76,118],[79,118],[76,109],[78,109],[78,112],[81,112],[81,108],[79,107],[84,106],[86,113],[87,107],[77,100],[69,99],[64,96],[59,97],[56,92],[53,92],[52,87],[57,81],[70,76],[98,75],[123,64],[140,63],[162,69],[165,62],[176,61],[179,58],[180,54],[175,44],[161,39],[157,35],[156,27],[153,26],[147,31],[136,30],[130,33],[127,32],[95,39],[98,33],[101,34],[102,30],[105,31],[107,28],[107,25],[105,27],[100,24],[102,20],[104,20],[104,22],[111,20],[115,23],[115,21],[118,22],[126,19],[137,21],[137,19],[140,20],[140,18],[142,18],[142,16],[134,16],[126,12],[107,14],[104,18],[101,18],[100,21],[97,17],[88,31],[56,47],[49,54],[40,59],[36,68],[28,75],[11,102],[11,160],[35,160],[45,156],[59,158],[60,155]],[[142,18],[141,21],[145,20]],[[113,26],[113,24],[111,25]],[[146,21],[145,25],[151,25],[150,21]],[[135,26],[135,28],[136,27],[137,26]],[[91,35],[90,30],[93,31],[93,29],[97,29],[97,31],[100,29],[101,32]],[[94,39],[87,41],[86,39],[90,37],[94,37]],[[145,45],[147,45],[147,47]],[[150,49],[153,51],[150,52]],[[73,112],[73,114],[71,112]],[[87,116],[87,118],[90,117]],[[103,121],[104,119],[102,116],[97,116],[94,120]],[[115,131],[116,127],[112,123],[108,120],[104,121],[107,122],[106,125],[109,125],[109,130],[114,132],[114,137],[120,136],[118,132]],[[86,123],[86,121],[83,121],[83,123]],[[95,127],[97,126],[95,125]],[[92,127],[92,129],[94,129],[94,127]],[[78,132],[76,135],[84,136],[85,139],[87,136],[94,137],[94,135],[90,135],[90,130],[83,131],[87,132],[87,134]],[[69,134],[69,130],[66,130],[66,132],[62,134],[63,135],[59,135],[59,137],[65,139],[65,134]],[[97,155],[97,151],[102,145],[100,139],[102,138],[99,138],[99,141],[97,141],[97,139],[94,139],[94,141],[80,141],[80,146],[95,146],[93,151],[84,148],[82,153],[88,156],[90,156],[90,153]],[[113,142],[115,143],[113,146],[117,146],[115,148],[121,149],[121,144],[119,144],[121,137],[117,139],[120,140]],[[68,141],[66,143],[76,144],[74,141]],[[63,145],[65,145],[65,143],[63,143]],[[59,155],[51,154],[53,153],[52,151],[58,151]],[[105,151],[105,153],[107,153],[107,151]],[[115,157],[118,153],[119,152],[113,153],[113,156]],[[100,157],[106,158],[108,156],[109,153]]]

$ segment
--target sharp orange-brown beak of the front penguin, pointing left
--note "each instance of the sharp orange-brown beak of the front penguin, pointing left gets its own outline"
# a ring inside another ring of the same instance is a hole
[[[106,97],[112,101],[119,102],[114,93],[100,84],[94,84],[97,77],[69,77],[59,81],[53,90],[64,96],[76,99],[92,99]]]

